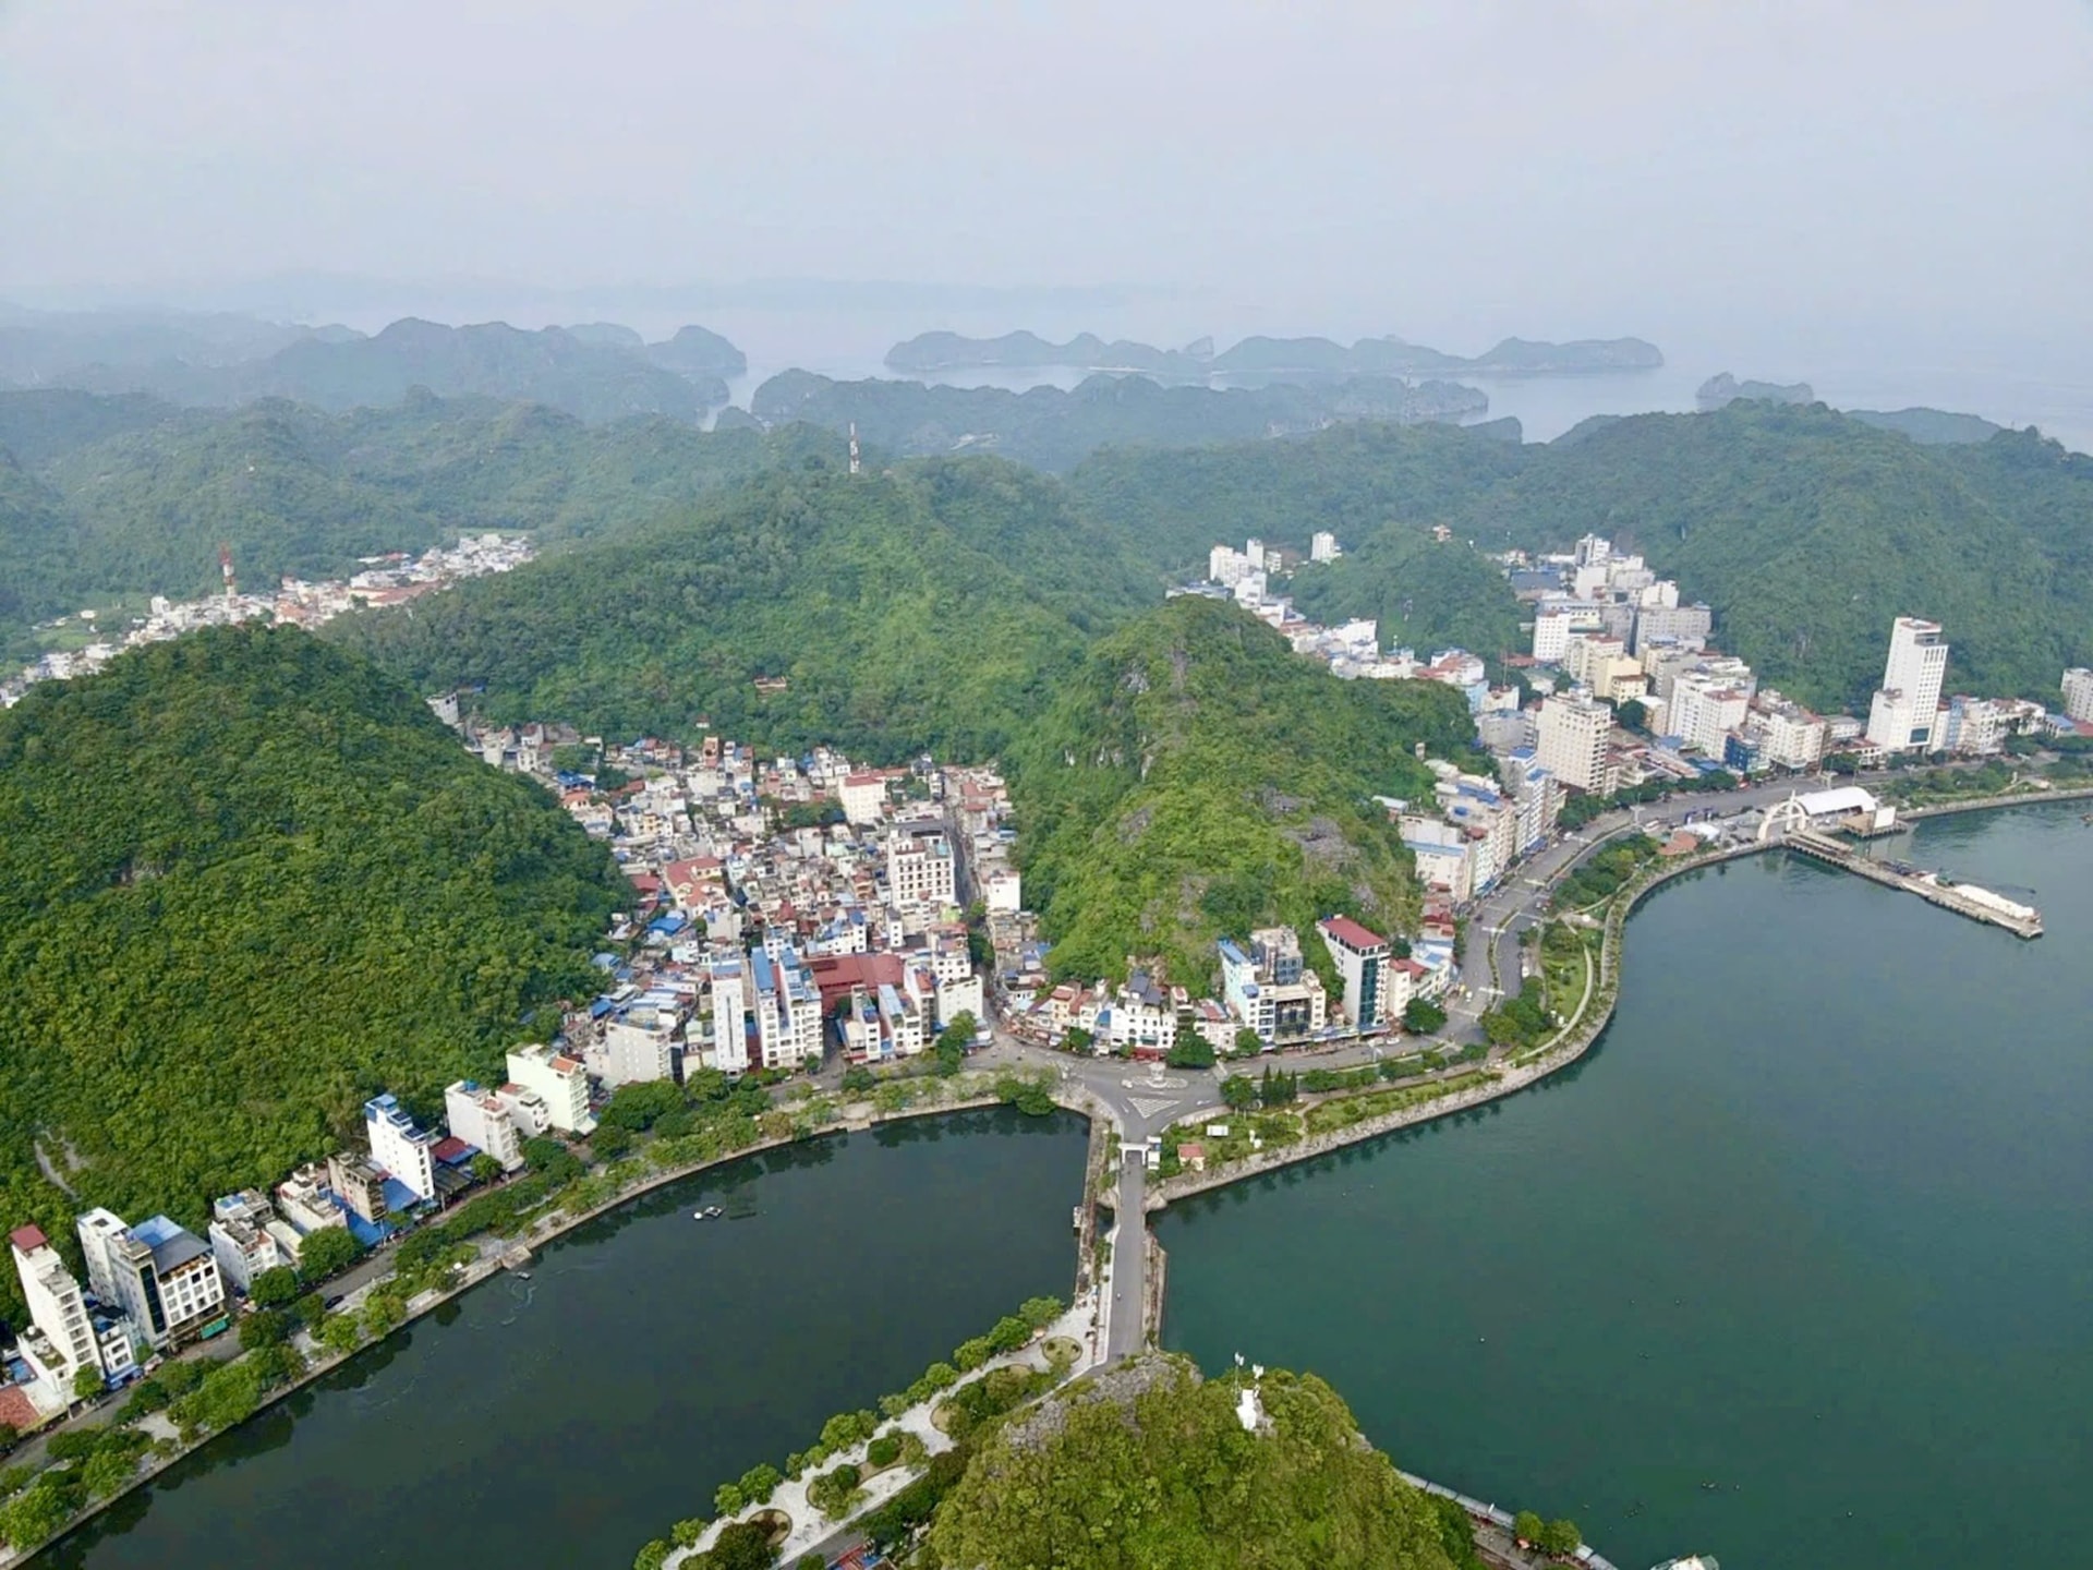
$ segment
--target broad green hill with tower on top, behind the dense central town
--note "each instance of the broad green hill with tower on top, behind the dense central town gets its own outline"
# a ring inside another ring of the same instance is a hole
[[[333,624],[421,691],[611,735],[988,758],[1160,584],[992,461],[779,469],[687,517]],[[333,630],[331,628],[331,630]],[[758,691],[756,682],[787,682]]]

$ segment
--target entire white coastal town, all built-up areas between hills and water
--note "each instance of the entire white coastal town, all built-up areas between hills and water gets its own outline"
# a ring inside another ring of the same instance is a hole
[[[948,1072],[980,1051],[1151,1066],[1155,1101],[1116,1093],[1109,1076],[1082,1082],[1120,1112],[1122,1241],[1134,1220],[1124,1264],[1093,1298],[1084,1367],[1122,1356],[1145,1342],[1155,1313],[1141,1266],[1139,1216],[1149,1204],[1141,1176],[1197,1183],[1229,1162],[1273,1160],[1279,1151],[1266,1141],[1314,1147],[1354,1120],[1327,1109],[1296,1118],[1289,1105],[1304,1074],[1291,1057],[1268,1055],[1316,1055],[1310,1093],[1394,1086],[1356,1114],[1381,1120],[1499,1095],[1505,1068],[1545,1072],[1528,1070],[1530,1038],[1499,1036],[1490,1022],[1492,1005],[1522,992],[1530,973],[1524,955],[1505,965],[1499,938],[1513,923],[1490,902],[1530,877],[1543,854],[1557,858],[1551,877],[1574,862],[1582,846],[1566,825],[1647,789],[1735,795],[1754,779],[1863,772],[1932,754],[1988,758],[2018,739],[2093,733],[2085,670],[2064,674],[2055,714],[2024,701],[1942,699],[1944,634],[1917,618],[1896,620],[1865,722],[1810,714],[1712,647],[1706,605],[1683,605],[1676,584],[1597,536],[1561,557],[1499,563],[1532,607],[1534,641],[1492,682],[1478,655],[1383,651],[1371,622],[1314,626],[1275,595],[1337,553],[1331,536],[1316,536],[1308,559],[1258,540],[1243,551],[1216,546],[1208,580],[1180,592],[1239,603],[1337,678],[1459,689],[1473,754],[1430,760],[1430,798],[1379,802],[1415,860],[1415,929],[1373,932],[1331,911],[1308,932],[1231,934],[1214,946],[1210,990],[1172,982],[1143,955],[1128,955],[1120,978],[1055,971],[1049,934],[1023,898],[1019,823],[992,764],[923,756],[873,766],[829,747],[760,756],[712,733],[693,745],[609,741],[555,720],[490,724],[465,695],[429,697],[460,745],[488,766],[538,779],[624,871],[630,902],[603,934],[597,994],[548,1022],[542,1040],[507,1051],[498,1082],[456,1080],[421,1116],[379,1093],[362,1107],[354,1147],[285,1172],[270,1191],[209,1195],[203,1235],[167,1214],[134,1225],[84,1210],[73,1237],[82,1281],[40,1227],[17,1227],[10,1248],[31,1323],[6,1363],[0,1423],[29,1434],[61,1421],[163,1359],[226,1336],[243,1306],[270,1313],[264,1304],[280,1302],[287,1281],[324,1287],[373,1250],[523,1172],[534,1145],[590,1141],[592,1158],[615,1158],[628,1143],[624,1124],[607,1128],[603,1118],[622,1093],[632,1103],[630,1086],[714,1076],[758,1086],[756,1105],[770,1105],[772,1089],[810,1076],[841,1074],[841,1089],[862,1095],[883,1074],[929,1063]],[[327,620],[523,559],[525,544],[483,536],[414,563],[370,563],[345,584],[285,584],[274,601],[228,592],[155,605],[128,641],[226,618]],[[63,678],[73,668],[42,674]],[[1846,827],[1856,810],[1877,810],[1865,791],[1787,793],[1804,829]],[[1735,831],[1720,821],[1674,827],[1664,854]],[[1482,959],[1463,942],[1473,923],[1486,936]],[[1245,1059],[1264,1059],[1262,1082]],[[1476,1072],[1492,1059],[1496,1070]],[[1166,1070],[1214,1070],[1212,1089],[1164,1078]],[[184,1208],[180,1195],[167,1204]]]

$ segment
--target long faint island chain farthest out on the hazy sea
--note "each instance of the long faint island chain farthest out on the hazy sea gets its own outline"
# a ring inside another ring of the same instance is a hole
[[[890,371],[927,375],[936,371],[982,368],[1072,368],[1072,371],[1139,371],[1151,377],[1208,381],[1224,377],[1419,377],[1419,375],[1501,375],[1501,377],[1574,377],[1595,371],[1656,371],[1664,354],[1639,337],[1578,339],[1547,343],[1507,337],[1480,356],[1444,354],[1400,337],[1363,337],[1350,347],[1327,337],[1245,337],[1241,343],[1214,352],[1214,339],[1201,337],[1183,350],[1160,350],[1153,343],[1116,339],[1107,343],[1095,333],[1078,333],[1067,343],[1053,343],[1038,333],[1005,333],[1003,337],[965,337],[961,333],[919,333],[887,350]]]

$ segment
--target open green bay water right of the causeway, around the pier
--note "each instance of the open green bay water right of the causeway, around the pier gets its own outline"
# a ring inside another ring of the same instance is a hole
[[[1166,1212],[1166,1342],[1314,1369],[1624,1570],[2093,1562],[2093,827],[1900,854],[2047,936],[1783,856],[1683,879],[1572,1072]]]

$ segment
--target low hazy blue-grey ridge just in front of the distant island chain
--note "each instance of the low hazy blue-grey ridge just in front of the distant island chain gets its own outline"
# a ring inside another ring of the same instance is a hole
[[[1076,467],[1101,446],[1193,446],[1298,435],[1350,421],[1455,421],[1490,400],[1446,381],[1360,377],[1323,387],[1164,387],[1147,377],[1088,377],[1072,391],[925,387],[919,381],[831,381],[810,371],[770,377],[749,410],[772,425],[806,421],[892,452],[994,452],[1038,469]]]

